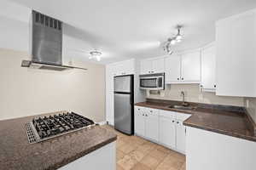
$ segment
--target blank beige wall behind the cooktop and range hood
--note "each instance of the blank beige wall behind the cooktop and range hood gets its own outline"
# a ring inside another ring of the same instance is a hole
[[[28,54],[0,48],[0,120],[64,110],[105,120],[104,65],[41,71],[20,67],[21,59]]]

